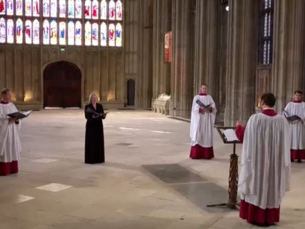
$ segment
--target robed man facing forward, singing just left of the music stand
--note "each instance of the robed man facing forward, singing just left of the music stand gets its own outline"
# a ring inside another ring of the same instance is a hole
[[[207,85],[202,84],[199,95],[193,99],[190,128],[192,145],[190,158],[192,159],[211,159],[214,157],[213,131],[216,107],[212,96],[207,95],[206,91]]]

